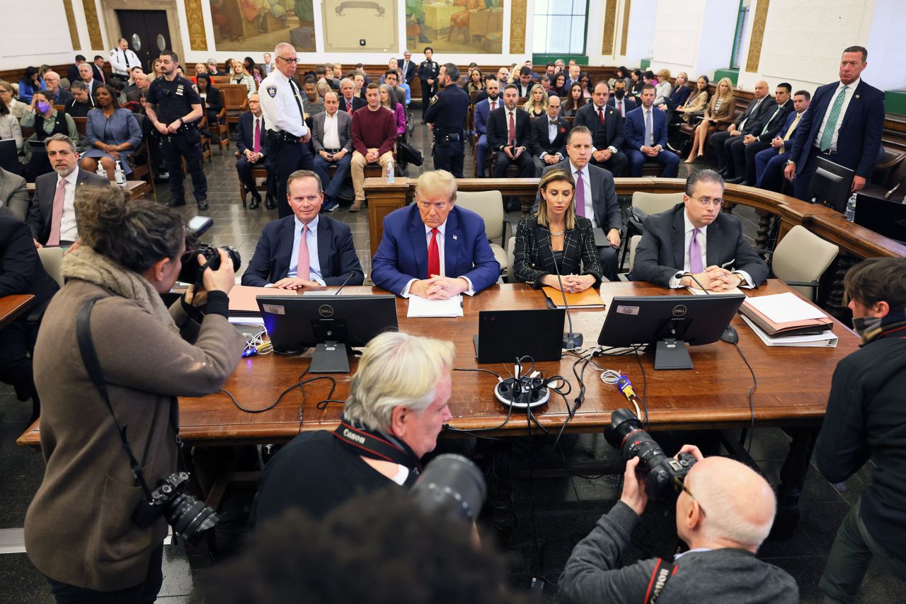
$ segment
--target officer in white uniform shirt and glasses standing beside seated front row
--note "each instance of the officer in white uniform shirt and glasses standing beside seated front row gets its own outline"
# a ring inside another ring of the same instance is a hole
[[[274,49],[275,70],[258,91],[261,110],[265,113],[267,148],[265,156],[268,173],[275,175],[276,203],[280,217],[292,216],[286,200],[286,180],[296,170],[313,170],[312,152],[307,143],[312,133],[305,125],[302,95],[294,81],[297,54],[290,43],[279,43]]]

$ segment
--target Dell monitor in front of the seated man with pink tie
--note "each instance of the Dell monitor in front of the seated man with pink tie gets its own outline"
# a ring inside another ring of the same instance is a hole
[[[294,354],[314,347],[309,373],[349,373],[352,347],[365,346],[383,331],[398,329],[396,296],[259,295],[275,352]]]

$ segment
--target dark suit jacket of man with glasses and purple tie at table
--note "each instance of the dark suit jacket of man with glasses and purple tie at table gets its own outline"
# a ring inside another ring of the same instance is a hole
[[[630,279],[667,287],[670,278],[686,264],[684,204],[645,218],[644,234],[635,250]],[[721,212],[708,225],[708,249],[705,266],[721,266],[733,261],[733,270],[745,271],[756,285],[765,283],[767,264],[742,236],[742,225],[736,216]]]

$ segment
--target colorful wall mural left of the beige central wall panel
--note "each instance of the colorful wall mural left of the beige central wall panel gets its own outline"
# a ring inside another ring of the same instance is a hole
[[[292,43],[313,53],[314,0],[208,0],[218,51],[274,52]]]

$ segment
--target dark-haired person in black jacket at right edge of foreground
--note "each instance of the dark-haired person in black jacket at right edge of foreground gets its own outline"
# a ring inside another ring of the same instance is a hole
[[[818,587],[829,604],[856,601],[872,558],[906,580],[906,258],[863,260],[843,291],[863,343],[834,370],[814,462],[834,484],[869,464],[872,481],[827,556]]]

